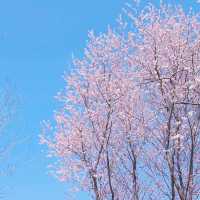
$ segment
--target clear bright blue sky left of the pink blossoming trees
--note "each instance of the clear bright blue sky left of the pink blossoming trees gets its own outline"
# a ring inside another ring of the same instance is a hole
[[[0,0],[0,78],[11,82],[21,98],[9,129],[19,138],[9,156],[16,169],[0,180],[5,199],[64,200],[68,196],[68,186],[47,174],[49,161],[38,141],[40,122],[52,118],[54,96],[64,87],[62,75],[70,68],[72,53],[82,54],[88,30],[99,33],[108,24],[113,26],[125,2]],[[79,199],[87,197],[81,194]]]

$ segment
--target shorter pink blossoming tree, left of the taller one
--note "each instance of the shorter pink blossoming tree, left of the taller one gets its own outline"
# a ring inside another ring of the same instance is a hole
[[[129,48],[110,29],[89,37],[85,58],[74,60],[75,71],[58,96],[64,106],[56,113],[55,138],[42,142],[61,158],[60,178],[73,178],[94,199],[138,199],[144,107]]]

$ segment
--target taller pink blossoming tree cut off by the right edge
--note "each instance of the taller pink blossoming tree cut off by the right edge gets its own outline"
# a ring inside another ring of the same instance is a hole
[[[137,19],[129,16],[138,30],[133,66],[138,66],[141,87],[148,93],[145,102],[154,114],[146,168],[155,194],[198,199],[199,16],[166,6],[149,6]]]

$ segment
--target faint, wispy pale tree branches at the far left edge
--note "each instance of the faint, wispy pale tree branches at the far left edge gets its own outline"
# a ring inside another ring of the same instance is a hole
[[[13,117],[16,114],[17,97],[9,84],[2,84],[0,88],[0,176],[13,173],[14,166],[10,163],[10,156],[16,143],[16,133],[10,133]],[[0,185],[0,199],[7,193],[5,184]]]

